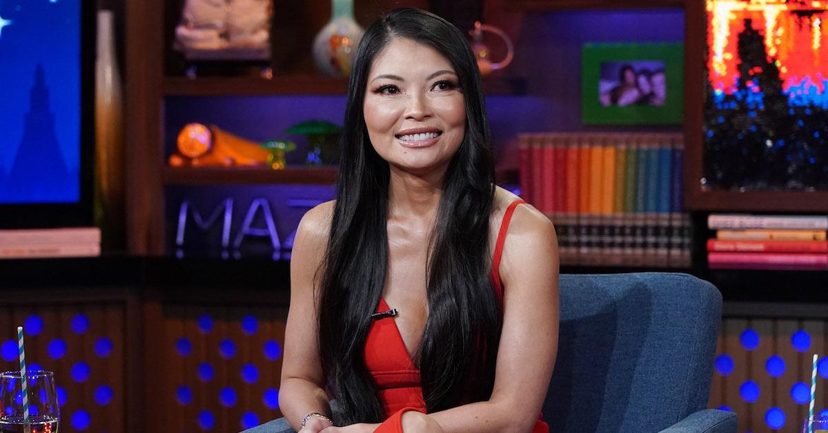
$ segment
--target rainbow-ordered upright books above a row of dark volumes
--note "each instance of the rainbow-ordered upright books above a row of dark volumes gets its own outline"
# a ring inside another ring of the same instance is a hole
[[[681,134],[532,133],[518,148],[522,196],[556,224],[561,264],[690,267]]]

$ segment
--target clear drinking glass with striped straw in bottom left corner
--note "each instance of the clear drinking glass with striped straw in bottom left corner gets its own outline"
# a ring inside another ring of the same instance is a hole
[[[20,372],[0,373],[0,433],[58,433],[60,407],[52,372],[26,372],[29,421],[24,420]]]

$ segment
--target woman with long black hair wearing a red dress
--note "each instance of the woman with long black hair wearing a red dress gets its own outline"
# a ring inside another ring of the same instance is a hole
[[[415,9],[368,28],[341,160],[336,200],[305,215],[294,243],[287,421],[301,433],[545,431],[555,231],[493,183],[460,31]]]

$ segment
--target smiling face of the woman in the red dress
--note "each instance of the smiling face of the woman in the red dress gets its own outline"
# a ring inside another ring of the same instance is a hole
[[[445,171],[465,136],[465,101],[449,60],[396,37],[368,72],[363,103],[371,144],[392,167]]]

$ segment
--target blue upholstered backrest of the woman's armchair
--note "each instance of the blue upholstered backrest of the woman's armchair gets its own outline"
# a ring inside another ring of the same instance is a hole
[[[704,409],[720,322],[720,292],[690,275],[561,275],[551,431],[655,432]]]

